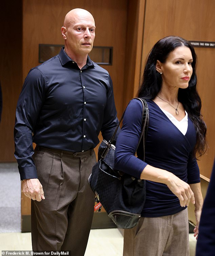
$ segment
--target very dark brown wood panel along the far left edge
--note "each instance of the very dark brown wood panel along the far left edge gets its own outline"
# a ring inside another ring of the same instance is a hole
[[[0,124],[0,162],[13,162],[15,109],[22,87],[22,3],[0,1],[0,81],[3,111]]]

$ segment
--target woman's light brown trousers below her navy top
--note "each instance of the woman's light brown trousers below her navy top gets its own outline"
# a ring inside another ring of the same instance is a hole
[[[123,256],[189,256],[188,210],[163,217],[141,217],[124,230]]]

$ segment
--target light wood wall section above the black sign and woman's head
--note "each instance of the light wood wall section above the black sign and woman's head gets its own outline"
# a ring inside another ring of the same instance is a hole
[[[146,0],[141,73],[149,51],[164,36],[214,41],[214,5],[213,0]]]

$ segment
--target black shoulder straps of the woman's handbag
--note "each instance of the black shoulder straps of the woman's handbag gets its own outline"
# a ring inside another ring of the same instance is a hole
[[[140,138],[139,138],[139,142],[138,142],[138,144],[137,144],[137,148],[136,148],[135,154],[136,154],[137,149],[138,149],[138,147],[139,147],[141,138],[143,138],[143,161],[144,161],[144,160],[145,160],[145,139],[146,139],[146,134],[147,134],[147,131],[148,131],[148,126],[149,126],[149,108],[148,108],[148,105],[147,105],[145,99],[143,99],[143,98],[134,98],[134,99],[138,99],[138,100],[140,100],[141,103],[142,103],[142,132],[141,132],[141,134],[140,134]],[[127,106],[127,107],[128,107],[128,106]],[[127,107],[126,107],[126,108],[127,108]],[[126,110],[126,108],[125,108],[125,110]],[[124,112],[123,112],[123,114],[122,114],[122,117],[121,117],[121,119],[120,119],[120,121],[119,121],[119,123],[118,123],[118,125],[117,125],[117,127],[116,127],[116,129],[115,129],[115,131],[114,131],[114,133],[113,133],[113,135],[112,135],[112,137],[111,137],[111,140],[110,140],[110,141],[108,142],[108,144],[107,144],[107,148],[110,148],[111,144],[113,144],[115,135],[116,135],[117,130],[118,130],[118,128],[119,128],[119,125],[120,125],[120,123],[121,123],[121,121],[122,121],[122,119],[123,119],[125,110],[124,110]],[[143,120],[144,120],[144,122],[143,122]],[[103,158],[106,156],[106,154],[107,154],[108,151],[109,151],[109,150],[104,150],[104,152],[103,152],[102,155],[101,155],[101,159],[103,159]]]

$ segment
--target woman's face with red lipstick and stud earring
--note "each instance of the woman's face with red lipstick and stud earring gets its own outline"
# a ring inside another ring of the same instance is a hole
[[[193,73],[192,61],[191,50],[186,46],[175,48],[164,63],[158,60],[156,68],[162,72],[162,86],[187,88]]]

